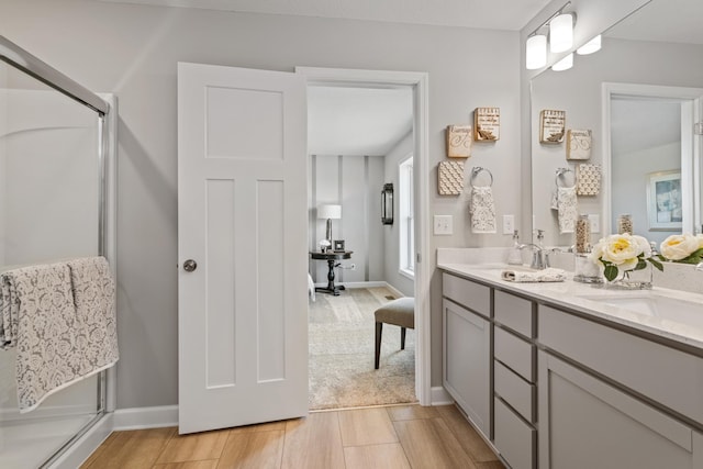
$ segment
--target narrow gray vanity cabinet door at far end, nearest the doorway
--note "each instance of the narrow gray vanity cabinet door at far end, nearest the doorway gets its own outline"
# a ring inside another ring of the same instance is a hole
[[[491,435],[491,328],[483,317],[445,299],[444,387],[489,438]]]

